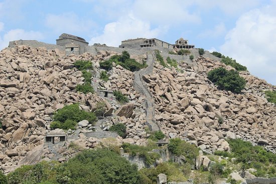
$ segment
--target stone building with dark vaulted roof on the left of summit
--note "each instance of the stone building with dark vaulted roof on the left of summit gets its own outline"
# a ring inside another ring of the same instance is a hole
[[[66,55],[83,54],[86,52],[86,47],[88,46],[88,42],[86,42],[83,38],[66,33],[61,34],[59,39],[56,41],[57,45],[65,47]]]

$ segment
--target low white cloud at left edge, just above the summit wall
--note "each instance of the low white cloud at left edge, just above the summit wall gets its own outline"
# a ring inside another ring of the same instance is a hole
[[[11,30],[6,33],[3,38],[0,37],[0,49],[8,47],[10,41],[14,40],[41,40],[43,35],[40,32],[29,31],[26,32],[22,29]]]

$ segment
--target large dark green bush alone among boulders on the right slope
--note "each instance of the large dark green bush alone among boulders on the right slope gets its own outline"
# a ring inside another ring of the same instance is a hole
[[[239,76],[237,71],[227,71],[223,67],[208,72],[208,79],[215,83],[219,89],[225,89],[235,93],[240,93],[245,87],[245,80]]]

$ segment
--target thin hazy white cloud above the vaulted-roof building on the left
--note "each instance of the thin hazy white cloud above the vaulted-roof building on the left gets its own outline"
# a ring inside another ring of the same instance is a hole
[[[80,19],[74,13],[64,13],[61,15],[47,15],[46,26],[56,34],[80,34],[89,33],[95,23],[89,19]]]

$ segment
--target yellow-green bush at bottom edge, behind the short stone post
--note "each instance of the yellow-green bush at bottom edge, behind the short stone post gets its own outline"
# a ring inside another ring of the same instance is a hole
[[[184,166],[180,166],[173,162],[163,162],[159,164],[156,168],[142,168],[140,170],[140,175],[143,184],[154,184],[156,183],[156,178],[158,174],[164,173],[167,175],[167,181],[185,181],[187,180],[183,174]]]

